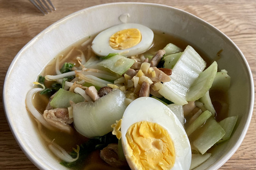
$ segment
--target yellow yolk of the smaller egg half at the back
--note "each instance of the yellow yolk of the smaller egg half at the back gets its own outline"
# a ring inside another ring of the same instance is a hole
[[[137,28],[123,29],[114,33],[109,39],[109,45],[115,50],[131,48],[141,42],[141,32]]]

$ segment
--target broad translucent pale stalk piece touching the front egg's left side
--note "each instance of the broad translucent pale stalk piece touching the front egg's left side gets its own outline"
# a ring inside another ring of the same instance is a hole
[[[111,125],[123,116],[125,94],[114,90],[94,103],[72,104],[75,129],[86,137],[102,136],[113,130]]]

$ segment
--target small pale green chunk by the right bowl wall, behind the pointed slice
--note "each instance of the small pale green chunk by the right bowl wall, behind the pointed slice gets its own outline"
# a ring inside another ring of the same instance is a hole
[[[230,76],[227,75],[227,71],[221,70],[220,72],[217,72],[213,80],[213,85],[211,86],[211,89],[227,91],[229,89],[229,86],[230,86]]]

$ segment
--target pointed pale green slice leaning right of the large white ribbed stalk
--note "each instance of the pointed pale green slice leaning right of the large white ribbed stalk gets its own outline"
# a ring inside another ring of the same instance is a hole
[[[187,93],[187,101],[198,100],[206,94],[211,88],[213,80],[218,69],[217,62],[214,61],[207,69],[199,74],[198,78],[193,82]]]

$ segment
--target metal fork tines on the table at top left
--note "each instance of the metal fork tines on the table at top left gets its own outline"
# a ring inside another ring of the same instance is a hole
[[[53,10],[56,10],[50,0],[47,0],[48,3],[45,0],[29,0],[29,2],[31,2],[40,12],[42,12],[43,15],[48,14],[49,11],[52,12]]]

